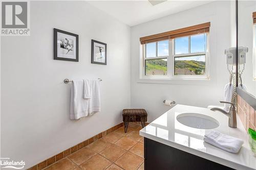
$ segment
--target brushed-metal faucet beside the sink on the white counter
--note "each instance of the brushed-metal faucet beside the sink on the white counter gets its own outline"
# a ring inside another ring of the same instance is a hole
[[[236,110],[236,106],[231,103],[231,102],[224,102],[224,101],[220,101],[220,103],[227,103],[230,104],[229,107],[229,112],[226,112],[225,110],[218,108],[218,107],[213,107],[210,110],[212,111],[220,111],[222,113],[224,113],[226,116],[228,116],[228,126],[231,128],[237,128],[237,110]]]

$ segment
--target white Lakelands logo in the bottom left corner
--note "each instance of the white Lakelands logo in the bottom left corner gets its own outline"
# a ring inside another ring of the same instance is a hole
[[[26,163],[22,161],[13,161],[10,158],[0,158],[1,168],[23,169]]]

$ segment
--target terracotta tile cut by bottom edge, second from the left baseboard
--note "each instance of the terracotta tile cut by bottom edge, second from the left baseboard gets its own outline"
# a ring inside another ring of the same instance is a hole
[[[111,161],[103,158],[99,154],[94,155],[91,159],[80,165],[83,170],[103,170],[111,165]]]

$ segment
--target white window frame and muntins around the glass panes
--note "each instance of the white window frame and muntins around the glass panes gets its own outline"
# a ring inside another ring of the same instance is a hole
[[[175,55],[175,38],[174,39],[166,39],[168,40],[168,56],[161,56],[157,57],[157,42],[156,42],[156,57],[150,57],[146,58],[146,43],[141,44],[142,48],[142,64],[140,68],[140,79],[160,79],[160,80],[209,80],[209,33],[202,33],[206,34],[206,49],[205,52],[198,52],[198,53],[188,53],[188,54],[177,54]],[[190,36],[184,36],[189,37],[188,41],[188,48],[190,52]],[[181,37],[178,37],[181,38]],[[164,41],[164,40],[160,40]],[[175,75],[175,57],[193,57],[193,56],[199,56],[199,55],[205,55],[205,75]],[[145,62],[148,59],[163,59],[167,58],[167,74],[166,75],[146,75],[146,66]]]

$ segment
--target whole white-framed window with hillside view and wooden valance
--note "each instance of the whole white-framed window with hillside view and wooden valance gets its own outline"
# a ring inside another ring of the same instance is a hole
[[[208,79],[209,23],[202,25],[142,37],[141,78]]]

